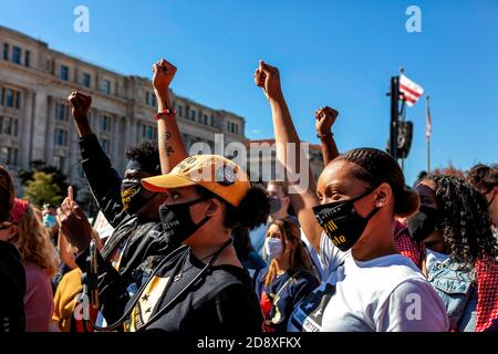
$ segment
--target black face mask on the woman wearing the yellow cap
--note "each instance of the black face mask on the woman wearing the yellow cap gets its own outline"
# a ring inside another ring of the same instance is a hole
[[[159,207],[160,222],[164,236],[172,242],[181,243],[205,225],[211,217],[206,216],[200,222],[195,223],[190,215],[190,206],[209,198],[199,198],[188,202],[162,205]]]

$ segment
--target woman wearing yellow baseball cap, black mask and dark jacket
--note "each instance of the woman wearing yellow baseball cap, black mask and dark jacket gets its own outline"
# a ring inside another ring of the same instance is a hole
[[[164,236],[183,247],[164,254],[123,309],[126,331],[260,332],[261,310],[231,232],[266,220],[266,192],[217,155],[189,156],[142,185],[167,194],[159,207]]]

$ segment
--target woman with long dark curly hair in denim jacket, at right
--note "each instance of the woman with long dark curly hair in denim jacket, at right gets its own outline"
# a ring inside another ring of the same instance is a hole
[[[421,208],[408,218],[425,244],[422,270],[443,298],[452,331],[484,331],[498,317],[498,242],[488,204],[465,179],[436,176],[415,190]]]

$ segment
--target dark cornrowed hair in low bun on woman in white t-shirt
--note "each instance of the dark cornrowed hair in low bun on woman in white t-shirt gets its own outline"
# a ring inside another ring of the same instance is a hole
[[[391,186],[394,195],[394,214],[408,217],[418,210],[418,195],[406,188],[405,176],[396,160],[387,153],[371,148],[355,148],[338,156],[334,160],[354,164],[353,176],[376,187],[382,183]]]

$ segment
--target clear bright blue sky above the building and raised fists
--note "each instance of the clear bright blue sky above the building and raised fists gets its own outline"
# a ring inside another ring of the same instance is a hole
[[[90,33],[73,9],[90,10]],[[405,10],[422,9],[422,33]],[[498,163],[498,1],[0,0],[0,24],[123,74],[151,76],[166,58],[176,93],[246,117],[250,138],[272,137],[270,110],[252,82],[259,59],[279,66],[302,139],[318,143],[313,112],[340,111],[340,150],[384,148],[390,77],[403,65],[430,95],[433,166]],[[405,175],[425,169],[425,103]]]

